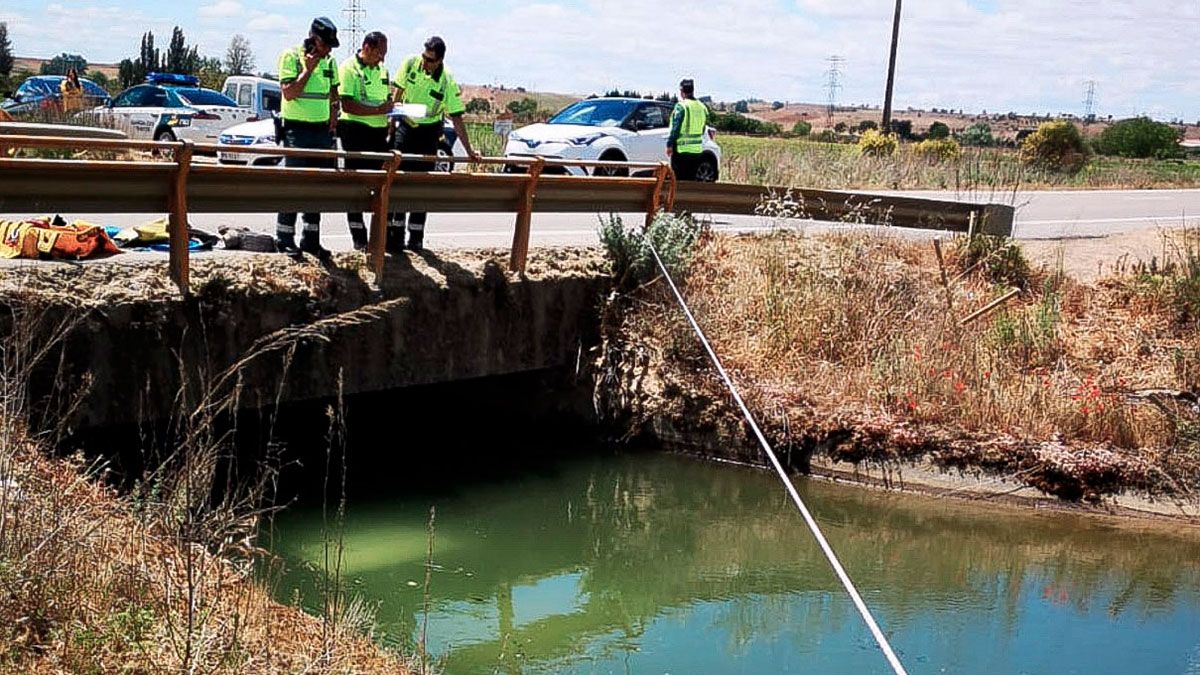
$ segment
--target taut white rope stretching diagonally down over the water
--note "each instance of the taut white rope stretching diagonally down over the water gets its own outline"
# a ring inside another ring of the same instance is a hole
[[[775,473],[779,474],[779,479],[782,480],[784,485],[787,488],[787,494],[791,495],[792,501],[796,502],[796,508],[798,508],[800,510],[800,515],[804,516],[804,522],[806,522],[809,530],[812,531],[812,536],[816,538],[817,544],[821,545],[821,550],[824,551],[834,573],[836,573],[838,579],[841,580],[841,585],[845,586],[846,592],[850,593],[850,598],[854,601],[854,607],[858,608],[858,614],[863,616],[863,621],[866,623],[866,627],[871,629],[871,635],[875,637],[876,644],[880,645],[880,649],[883,651],[883,656],[887,657],[888,663],[892,665],[892,670],[894,670],[896,675],[908,675],[908,673],[904,669],[904,665],[900,664],[900,659],[896,658],[895,652],[892,651],[892,645],[888,644],[888,639],[883,635],[883,632],[880,631],[880,626],[875,622],[875,617],[871,616],[871,610],[868,609],[866,603],[863,602],[863,596],[858,593],[858,589],[854,587],[854,583],[850,579],[850,575],[846,574],[846,569],[838,560],[838,554],[834,552],[833,546],[830,546],[829,542],[826,540],[824,534],[821,532],[821,527],[812,518],[809,508],[804,506],[804,500],[800,498],[800,494],[796,491],[796,485],[792,484],[791,478],[787,477],[787,472],[784,471],[784,465],[779,462],[775,450],[772,449],[770,443],[767,442],[767,437],[763,436],[762,430],[758,429],[758,423],[755,422],[754,414],[750,413],[750,408],[748,408],[745,401],[742,400],[742,394],[738,393],[738,388],[733,384],[733,380],[730,378],[730,374],[726,372],[725,366],[721,365],[721,359],[718,358],[716,352],[713,351],[713,346],[709,345],[708,338],[704,336],[704,331],[700,328],[700,324],[696,323],[696,317],[692,316],[691,309],[688,307],[688,303],[679,293],[679,288],[676,287],[674,281],[671,279],[671,273],[667,271],[666,265],[662,264],[662,258],[659,257],[659,252],[655,250],[654,244],[649,240],[649,237],[647,237],[646,243],[649,245],[650,252],[654,253],[654,259],[659,263],[659,269],[662,270],[662,276],[671,286],[671,292],[674,293],[676,299],[679,300],[679,306],[683,307],[683,312],[688,316],[688,321],[691,323],[692,329],[696,330],[696,335],[700,338],[701,344],[704,345],[704,350],[708,352],[708,358],[713,360],[713,365],[715,365],[716,371],[720,372],[721,380],[725,381],[725,384],[733,394],[733,400],[738,402],[738,407],[742,408],[742,413],[745,416],[746,422],[749,422],[750,428],[754,429],[755,436],[758,437],[762,449],[767,452],[767,456],[770,459],[772,466],[775,467]]]

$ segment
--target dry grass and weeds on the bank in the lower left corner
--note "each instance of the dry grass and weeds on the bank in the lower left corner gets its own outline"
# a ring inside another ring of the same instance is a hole
[[[239,473],[233,430],[220,423],[238,407],[246,363],[282,353],[286,372],[290,350],[323,339],[324,324],[269,335],[203,386],[181,387],[168,447],[128,495],[106,486],[98,465],[49,459],[50,443],[24,423],[30,364],[71,327],[13,325],[0,351],[0,673],[408,671],[340,590],[319,619],[271,598],[256,538],[277,460]]]

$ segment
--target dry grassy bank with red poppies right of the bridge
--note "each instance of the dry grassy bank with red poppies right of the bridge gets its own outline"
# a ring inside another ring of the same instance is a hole
[[[776,431],[848,459],[1033,470],[1039,486],[1076,498],[1180,494],[1200,474],[1200,414],[1187,402],[1200,392],[1200,311],[1187,310],[1200,307],[1187,300],[1200,237],[1174,237],[1175,264],[1098,286],[1030,274],[1013,245],[960,239],[947,251],[948,289],[928,241],[715,238],[685,293]],[[1013,286],[1024,288],[1014,300],[960,323]],[[652,295],[624,334],[646,335],[677,386],[720,400],[695,376],[704,359],[678,310],[661,288]],[[830,441],[841,437],[853,442]],[[1068,485],[1045,484],[1060,473]]]

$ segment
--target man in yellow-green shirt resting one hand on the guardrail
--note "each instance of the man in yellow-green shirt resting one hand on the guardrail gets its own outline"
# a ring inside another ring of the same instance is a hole
[[[420,103],[426,108],[425,117],[419,119],[403,118],[396,124],[396,149],[410,155],[436,155],[438,142],[442,141],[442,126],[445,115],[450,115],[458,139],[473,160],[479,154],[470,145],[467,126],[462,121],[467,112],[462,104],[458,84],[445,67],[446,43],[440,37],[431,37],[425,42],[425,52],[408,58],[396,72],[396,100],[403,103]],[[433,162],[402,162],[401,171],[431,172]],[[426,214],[414,213],[408,217],[408,249],[420,251],[425,245]],[[388,250],[403,251],[404,214],[396,214],[388,223]]]

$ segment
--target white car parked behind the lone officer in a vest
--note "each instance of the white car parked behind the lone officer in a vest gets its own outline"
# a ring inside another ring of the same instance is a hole
[[[662,162],[667,160],[667,136],[674,104],[644,98],[588,98],[568,106],[544,124],[521,127],[509,135],[504,154],[509,157],[558,160],[607,160],[617,162]],[[708,127],[697,178],[720,178],[721,148]],[[505,167],[505,171],[523,171]],[[547,167],[546,172],[556,171]],[[595,167],[592,175],[628,175],[628,169]],[[580,167],[557,168],[557,173],[588,175]],[[635,172],[640,173],[640,172]]]

